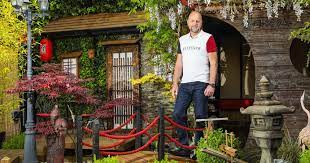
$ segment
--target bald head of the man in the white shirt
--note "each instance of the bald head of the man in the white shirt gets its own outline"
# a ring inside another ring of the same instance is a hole
[[[187,19],[187,25],[192,35],[196,35],[201,31],[202,16],[197,11],[192,11]]]

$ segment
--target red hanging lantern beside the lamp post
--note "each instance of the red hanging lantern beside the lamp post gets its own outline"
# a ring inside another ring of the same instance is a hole
[[[48,62],[53,56],[52,41],[44,38],[40,41],[40,59],[43,62]]]

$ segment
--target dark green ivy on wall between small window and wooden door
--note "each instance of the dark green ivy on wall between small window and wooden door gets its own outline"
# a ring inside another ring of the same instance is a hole
[[[99,36],[102,37],[102,36]],[[103,46],[94,43],[94,37],[76,37],[68,39],[60,39],[55,41],[56,55],[55,62],[60,62],[59,55],[64,52],[82,51],[80,57],[79,77],[81,79],[92,79],[85,82],[85,86],[90,88],[105,99],[106,94],[106,51]],[[102,38],[103,39],[103,38]],[[88,50],[95,49],[95,57],[88,57]]]

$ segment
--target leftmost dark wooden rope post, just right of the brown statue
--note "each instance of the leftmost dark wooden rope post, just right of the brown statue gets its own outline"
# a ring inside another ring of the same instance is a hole
[[[83,131],[82,131],[82,117],[77,116],[76,118],[76,148],[75,148],[75,158],[77,163],[83,162],[83,146],[82,146],[82,140],[83,140]]]

